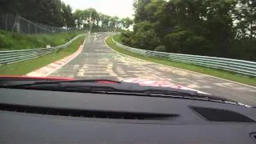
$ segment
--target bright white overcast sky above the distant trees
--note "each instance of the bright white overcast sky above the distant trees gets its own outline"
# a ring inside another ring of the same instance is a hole
[[[94,8],[102,14],[118,16],[119,18],[133,18],[134,0],[62,0],[69,4],[73,10]]]

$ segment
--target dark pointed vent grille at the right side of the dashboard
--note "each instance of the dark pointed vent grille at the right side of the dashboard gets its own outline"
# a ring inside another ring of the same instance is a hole
[[[242,114],[230,110],[190,106],[195,113],[212,122],[255,122]]]

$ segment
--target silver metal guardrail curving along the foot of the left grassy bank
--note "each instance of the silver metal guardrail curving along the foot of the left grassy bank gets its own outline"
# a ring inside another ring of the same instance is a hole
[[[14,62],[22,62],[32,58],[38,58],[43,55],[50,54],[55,50],[64,49],[67,46],[70,46],[70,44],[74,42],[76,39],[84,35],[85,34],[79,34],[76,37],[72,38],[70,42],[66,42],[61,46],[54,46],[50,48],[29,49],[29,50],[0,51],[0,66],[14,63]]]

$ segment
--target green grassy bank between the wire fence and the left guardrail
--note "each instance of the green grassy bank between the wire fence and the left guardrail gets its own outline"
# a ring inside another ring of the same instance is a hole
[[[56,34],[18,34],[0,30],[0,50],[21,50],[50,46],[59,46],[68,42],[82,31],[70,31]]]

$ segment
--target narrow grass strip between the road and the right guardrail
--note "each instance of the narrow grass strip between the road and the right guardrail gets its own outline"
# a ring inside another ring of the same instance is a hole
[[[117,36],[114,36],[114,37],[115,37],[114,40],[116,40]],[[256,78],[255,77],[246,77],[244,75],[235,74],[235,73],[228,72],[225,70],[216,70],[216,69],[211,69],[211,68],[207,68],[207,67],[203,67],[203,66],[190,65],[190,64],[186,64],[186,63],[182,63],[182,62],[172,62],[172,61],[167,61],[165,59],[160,59],[160,58],[145,57],[141,54],[135,54],[133,52],[130,52],[128,50],[123,50],[122,48],[116,46],[115,43],[112,41],[111,37],[106,39],[106,44],[108,46],[110,46],[112,49],[114,49],[122,54],[130,55],[134,58],[141,58],[146,61],[157,62],[157,63],[163,64],[166,66],[174,66],[174,67],[182,68],[184,70],[191,70],[191,71],[195,71],[195,72],[202,73],[202,74],[212,75],[212,76],[215,76],[218,78],[224,78],[224,79],[231,80],[234,82],[241,82],[241,83],[244,83],[247,85],[256,86]]]

